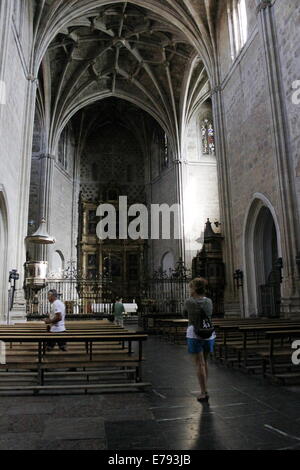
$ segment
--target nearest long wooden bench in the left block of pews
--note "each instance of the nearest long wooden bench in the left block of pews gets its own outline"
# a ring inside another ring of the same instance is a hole
[[[55,377],[56,373],[58,377],[81,375],[86,376],[88,380],[91,374],[95,375],[95,372],[100,374],[102,371],[103,375],[107,375],[108,368],[110,368],[108,375],[116,375],[119,371],[130,379],[134,378],[134,381],[130,382],[131,386],[139,384],[141,387],[142,343],[146,339],[145,334],[129,332],[117,327],[113,331],[108,328],[103,331],[87,330],[85,332],[75,328],[73,331],[59,334],[31,331],[31,328],[26,331],[21,328],[0,328],[0,340],[10,345],[10,348],[7,348],[7,363],[0,366],[0,377],[2,379],[5,372],[11,375],[12,371],[18,370],[36,373],[37,383],[31,385],[31,389],[34,390],[35,386],[45,385],[45,377],[49,377],[49,373],[52,377]],[[49,340],[67,342],[68,351],[47,353],[45,346]],[[138,345],[135,352],[133,343]],[[68,368],[71,370],[59,373],[59,369]],[[112,370],[112,368],[117,370]],[[77,372],[75,374],[74,369]],[[147,385],[149,384],[144,383],[144,386]],[[10,387],[16,390],[16,385]],[[61,388],[61,385],[59,387]],[[83,385],[82,387],[84,388]],[[0,391],[7,391],[7,386],[0,386]]]

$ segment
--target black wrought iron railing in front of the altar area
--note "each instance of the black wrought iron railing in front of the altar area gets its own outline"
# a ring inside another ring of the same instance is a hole
[[[144,279],[140,296],[136,299],[126,298],[126,283],[121,292],[123,302],[138,304],[141,313],[180,314],[189,297],[191,273],[180,260],[176,268],[168,272],[158,270],[151,278]],[[113,280],[110,276],[93,278],[82,277],[74,268],[68,268],[60,275],[50,274],[46,287],[35,292],[27,288],[27,315],[44,316],[50,310],[48,291],[55,289],[65,302],[67,315],[111,314],[113,310]]]

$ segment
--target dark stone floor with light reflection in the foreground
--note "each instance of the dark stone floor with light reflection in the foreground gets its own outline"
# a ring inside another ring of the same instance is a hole
[[[300,448],[300,387],[211,363],[201,405],[184,346],[149,338],[145,356],[147,392],[1,396],[0,450]]]

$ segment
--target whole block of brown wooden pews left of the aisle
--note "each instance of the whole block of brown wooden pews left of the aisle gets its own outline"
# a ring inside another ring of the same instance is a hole
[[[108,320],[67,322],[64,333],[48,333],[43,322],[0,325],[0,393],[55,390],[143,389],[144,333]],[[63,340],[67,351],[49,340]],[[3,347],[5,345],[5,347]]]

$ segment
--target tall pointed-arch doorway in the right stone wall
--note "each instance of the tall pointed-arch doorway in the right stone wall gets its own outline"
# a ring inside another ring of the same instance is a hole
[[[250,208],[245,230],[245,266],[248,315],[279,317],[280,234],[275,211],[267,200],[256,199]]]

